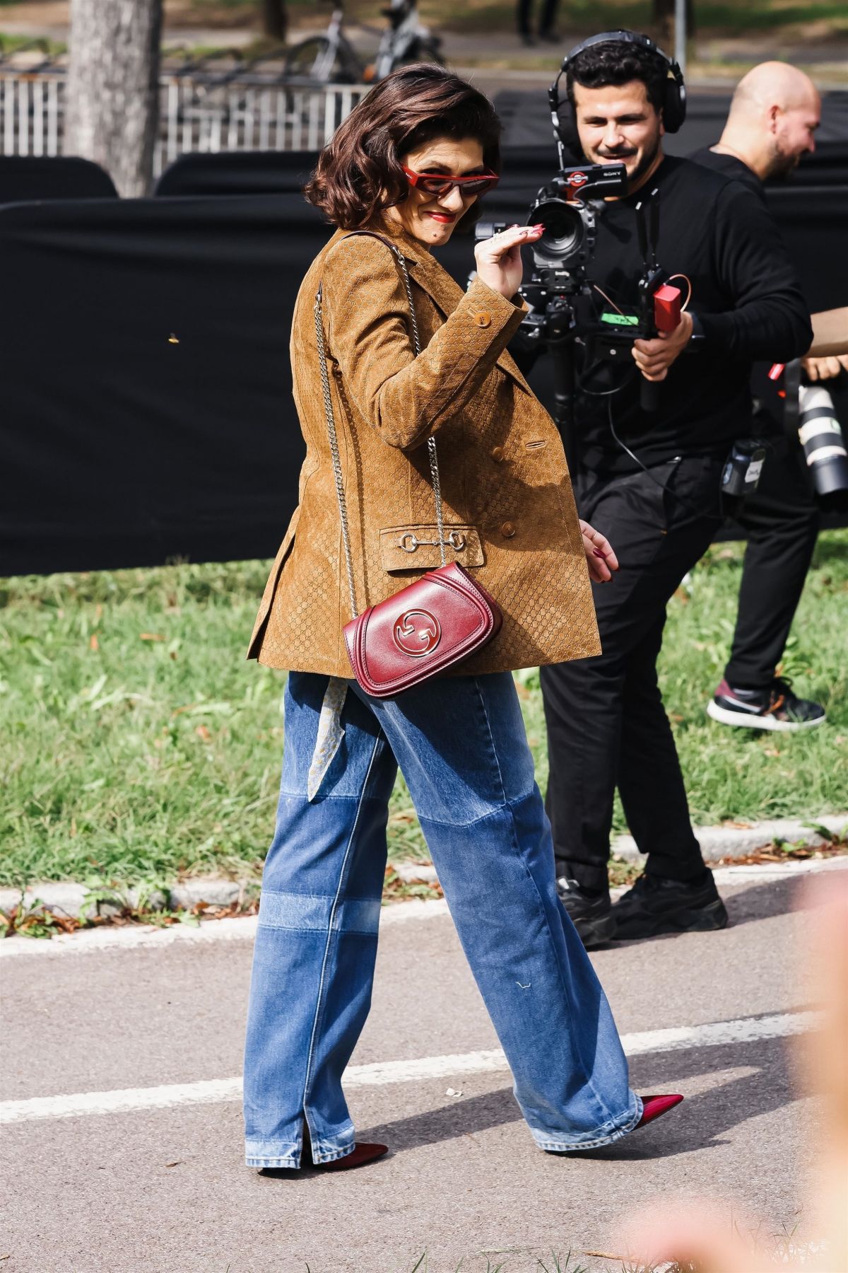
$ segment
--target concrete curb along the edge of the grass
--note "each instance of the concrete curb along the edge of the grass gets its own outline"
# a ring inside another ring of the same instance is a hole
[[[751,822],[744,826],[701,826],[695,827],[695,835],[701,844],[704,861],[718,862],[721,858],[741,858],[756,849],[767,848],[773,840],[786,840],[795,844],[805,840],[811,848],[821,848],[828,841],[811,830],[811,824],[825,827],[828,831],[847,833],[848,813],[824,813],[821,817],[810,820],[797,817],[774,819],[767,822]],[[636,848],[636,843],[629,835],[619,835],[613,840],[613,853],[626,862],[642,862],[642,854]],[[432,866],[420,866],[416,862],[393,862],[404,883],[421,882],[435,883],[436,869]],[[753,867],[751,869],[758,869]],[[65,915],[76,917],[84,904],[89,890],[81,883],[32,883],[24,895],[24,901],[32,906],[36,900],[44,904],[48,910],[56,910]],[[178,906],[196,906],[198,901],[206,901],[211,906],[230,906],[234,901],[245,897],[256,897],[259,883],[256,880],[221,880],[217,876],[203,876],[195,880],[186,880],[182,883],[172,885],[167,892],[153,895],[149,904],[163,910],[175,910]],[[122,894],[131,905],[137,905],[139,890],[127,889]],[[0,889],[0,910],[8,911],[18,905],[20,900],[19,889]],[[114,903],[102,901],[95,913],[100,915],[117,915],[121,911],[122,901],[116,897]]]

